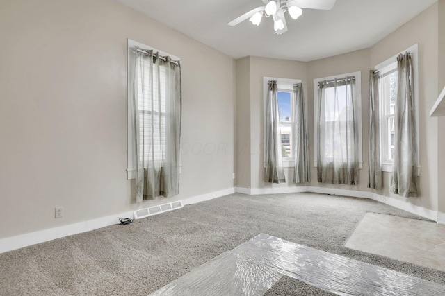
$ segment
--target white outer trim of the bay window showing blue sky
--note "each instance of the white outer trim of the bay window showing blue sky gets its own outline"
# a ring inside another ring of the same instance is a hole
[[[270,80],[277,80],[277,89],[278,91],[290,91],[293,92],[293,85],[297,83],[301,83],[300,79],[291,79],[291,78],[277,78],[277,77],[263,77],[263,139],[264,139],[264,147],[263,151],[266,151],[266,104],[267,104],[267,89],[268,82]],[[293,128],[292,128],[293,130]],[[263,153],[263,167],[266,167],[266,153]],[[295,157],[283,157],[282,158],[283,167],[284,168],[293,168],[295,166]]]

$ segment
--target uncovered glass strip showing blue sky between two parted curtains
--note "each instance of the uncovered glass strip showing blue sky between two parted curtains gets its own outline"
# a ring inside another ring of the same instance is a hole
[[[291,93],[277,92],[278,112],[280,113],[282,157],[292,157],[291,146]]]

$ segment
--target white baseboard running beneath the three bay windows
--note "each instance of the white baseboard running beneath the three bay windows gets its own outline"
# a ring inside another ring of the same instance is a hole
[[[437,213],[437,211],[432,211],[430,209],[425,209],[423,207],[410,204],[409,202],[404,202],[403,200],[396,200],[395,198],[390,198],[373,192],[367,191],[356,191],[356,190],[345,190],[327,187],[316,187],[316,186],[302,186],[302,187],[272,187],[272,188],[260,188],[260,189],[245,189],[236,187],[236,193],[244,193],[250,195],[261,195],[261,194],[279,194],[279,193],[321,193],[321,194],[335,194],[350,196],[353,198],[369,198],[384,204],[388,204],[391,207],[396,207],[402,209],[403,211],[416,214],[423,218],[427,218],[436,221],[439,224],[445,224],[445,214]]]

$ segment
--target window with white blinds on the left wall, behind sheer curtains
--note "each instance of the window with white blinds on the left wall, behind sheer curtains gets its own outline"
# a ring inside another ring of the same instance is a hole
[[[127,143],[127,156],[128,156],[128,164],[127,164],[127,178],[134,179],[136,177],[136,155],[134,155],[133,151],[133,143],[135,143],[136,134],[135,131],[132,128],[133,120],[134,120],[134,114],[132,113],[133,110],[133,85],[131,84],[133,79],[136,75],[136,81],[138,81],[138,96],[142,97],[144,94],[160,94],[161,95],[161,101],[157,102],[154,101],[154,103],[151,105],[149,103],[143,103],[144,100],[139,101],[139,105],[137,106],[138,114],[139,114],[139,127],[140,127],[140,146],[139,150],[144,150],[144,158],[145,159],[139,159],[139,160],[145,160],[147,161],[147,157],[149,154],[154,155],[154,160],[165,160],[166,155],[168,154],[166,149],[166,109],[168,109],[168,105],[166,104],[165,100],[165,94],[166,94],[166,87],[168,85],[167,81],[167,71],[169,71],[166,67],[161,67],[159,71],[159,77],[155,77],[155,80],[159,80],[159,84],[154,83],[152,88],[150,84],[142,83],[143,76],[140,75],[141,69],[136,69],[135,74],[135,57],[133,53],[134,47],[138,47],[140,49],[146,49],[146,50],[153,50],[154,52],[159,52],[161,55],[169,55],[168,53],[163,53],[162,51],[159,51],[157,49],[153,49],[150,46],[147,46],[145,44],[141,44],[139,42],[128,40],[128,55],[127,55],[127,118],[128,118],[128,143]],[[179,58],[170,55],[172,60],[180,60]],[[145,67],[145,70],[149,70],[150,67],[149,63],[140,65],[140,67]],[[156,71],[154,71],[154,74],[156,75]],[[145,89],[143,89],[143,85]],[[159,88],[158,88],[159,86]],[[156,119],[156,120],[154,120]],[[154,127],[153,129],[150,127]],[[152,133],[152,130],[154,132]],[[153,137],[153,139],[156,139],[154,141],[153,150],[149,150],[149,146],[144,146],[143,139],[149,139]]]

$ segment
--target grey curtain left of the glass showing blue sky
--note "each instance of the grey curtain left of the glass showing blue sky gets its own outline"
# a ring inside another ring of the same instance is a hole
[[[286,182],[282,164],[280,114],[278,112],[277,81],[268,82],[266,101],[266,183]]]

